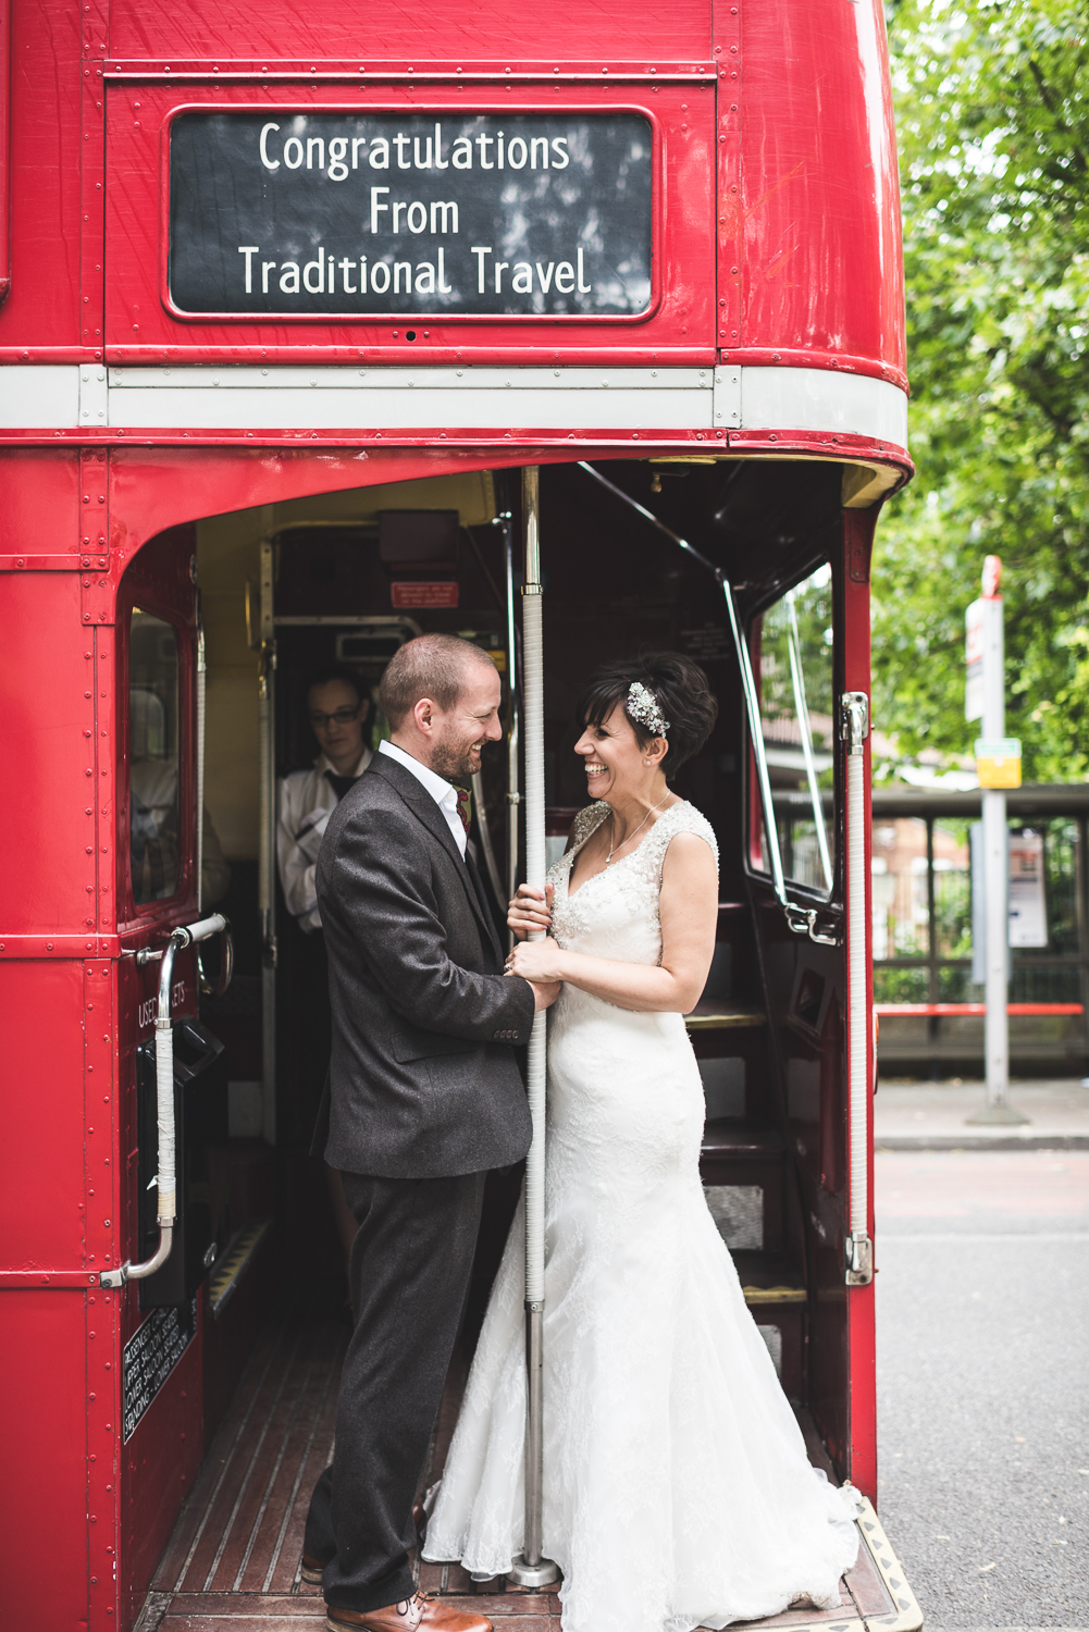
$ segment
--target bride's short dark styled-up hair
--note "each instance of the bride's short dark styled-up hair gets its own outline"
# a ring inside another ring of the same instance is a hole
[[[627,703],[633,681],[653,694],[665,720],[669,721],[666,743],[669,752],[663,770],[673,778],[686,759],[697,754],[710,736],[718,718],[718,698],[707,684],[699,663],[679,651],[648,651],[624,663],[606,663],[589,677],[576,703],[580,731],[588,725],[604,725],[612,710]],[[635,731],[640,747],[650,747],[655,733],[624,708],[624,716]]]

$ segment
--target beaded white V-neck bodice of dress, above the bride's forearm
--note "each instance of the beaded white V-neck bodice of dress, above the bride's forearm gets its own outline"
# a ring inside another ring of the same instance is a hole
[[[694,805],[679,800],[663,811],[629,855],[586,878],[571,896],[568,883],[575,857],[607,819],[609,806],[604,800],[580,811],[571,827],[571,849],[549,868],[549,883],[555,885],[552,934],[568,951],[617,958],[622,963],[658,963],[661,960],[658,896],[669,840],[679,832],[699,834],[710,845],[717,865],[715,832]]]

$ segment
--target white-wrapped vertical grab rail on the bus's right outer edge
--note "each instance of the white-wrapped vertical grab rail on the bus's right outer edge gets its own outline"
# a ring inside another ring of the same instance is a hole
[[[869,1188],[870,1074],[865,1002],[869,924],[865,912],[865,738],[870,702],[865,692],[844,692],[841,731],[847,743],[847,1144],[849,1239],[847,1286],[873,1279]]]

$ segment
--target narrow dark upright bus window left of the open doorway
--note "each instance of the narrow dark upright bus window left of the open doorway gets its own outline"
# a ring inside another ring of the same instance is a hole
[[[129,632],[129,854],[132,899],[178,889],[178,640],[173,623],[132,609]]]

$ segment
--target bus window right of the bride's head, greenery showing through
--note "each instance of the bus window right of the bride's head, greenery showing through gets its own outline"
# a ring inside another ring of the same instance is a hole
[[[818,566],[761,620],[764,752],[785,878],[831,894],[833,586]]]

